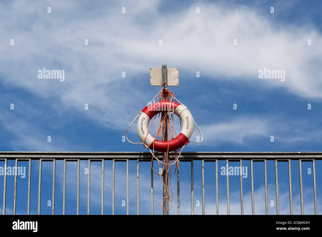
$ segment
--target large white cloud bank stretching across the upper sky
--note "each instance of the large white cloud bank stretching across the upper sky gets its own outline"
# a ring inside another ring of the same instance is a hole
[[[0,17],[7,23],[0,28],[3,84],[57,100],[66,113],[88,103],[88,117],[110,128],[124,128],[136,115],[138,102],[141,109],[153,96],[154,90],[146,93],[141,85],[148,83],[148,68],[161,62],[179,66],[187,77],[194,68],[209,79],[243,80],[321,97],[322,37],[315,29],[280,27],[246,6],[199,3],[200,14],[194,6],[163,14],[156,10],[159,3],[124,2],[126,14],[117,3],[51,2],[51,14],[42,2],[1,3]],[[43,67],[64,69],[65,81],[38,79]],[[264,67],[285,69],[285,82],[258,79]],[[133,100],[137,95],[140,100]]]

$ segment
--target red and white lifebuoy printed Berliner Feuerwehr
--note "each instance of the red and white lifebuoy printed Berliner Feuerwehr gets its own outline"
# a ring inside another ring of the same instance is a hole
[[[150,120],[158,113],[169,111],[177,115],[182,121],[182,130],[179,135],[170,140],[170,141],[154,141],[154,137],[147,133],[148,126]],[[161,101],[151,104],[150,106],[146,106],[142,109],[142,113],[137,121],[137,133],[145,145],[155,151],[158,152],[166,152],[168,150],[169,145],[169,152],[178,150],[183,145],[186,145],[189,142],[189,139],[192,135],[194,130],[194,122],[190,112],[188,111],[187,107],[182,104],[178,104],[175,102],[170,101]],[[153,146],[154,143],[154,146]]]

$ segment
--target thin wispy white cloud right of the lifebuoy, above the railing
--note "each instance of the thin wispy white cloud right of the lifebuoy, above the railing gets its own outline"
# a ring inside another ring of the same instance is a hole
[[[281,147],[288,147],[290,143],[319,143],[322,133],[318,124],[281,114],[237,115],[216,123],[200,124],[199,127],[204,135],[201,145],[212,147],[223,143],[247,145],[258,139],[266,139],[270,143],[271,136],[274,136],[274,142],[278,142]],[[195,136],[199,136],[197,129],[194,130],[192,138]]]

